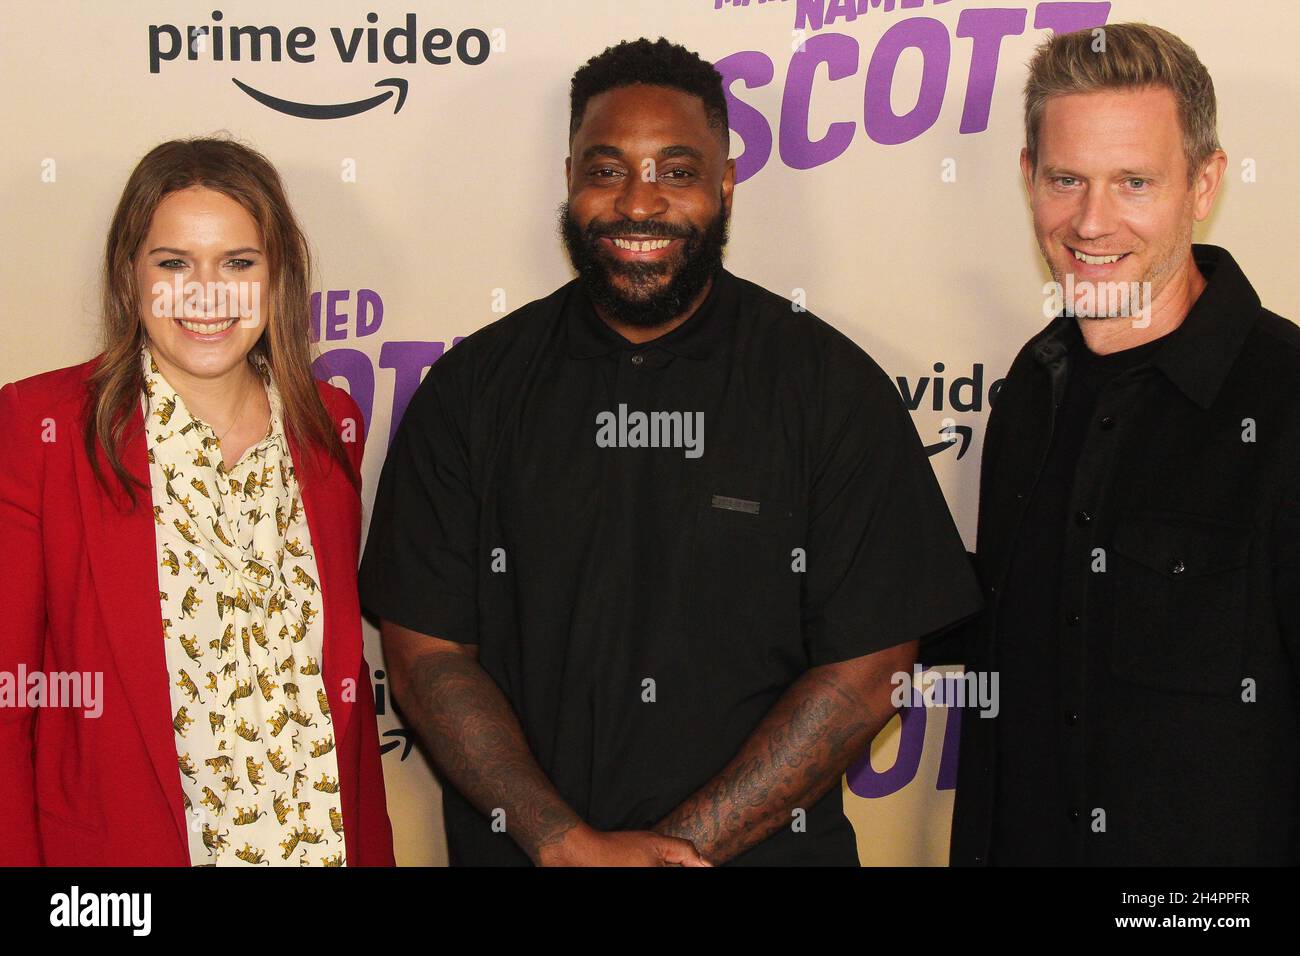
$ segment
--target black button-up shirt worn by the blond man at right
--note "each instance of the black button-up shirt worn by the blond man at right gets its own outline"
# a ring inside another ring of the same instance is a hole
[[[1300,329],[1232,258],[1171,334],[1057,319],[984,445],[953,862],[1300,862]],[[1050,523],[1050,527],[1048,524]]]

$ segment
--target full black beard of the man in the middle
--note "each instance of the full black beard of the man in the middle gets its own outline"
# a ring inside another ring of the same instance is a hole
[[[568,202],[560,204],[559,220],[564,248],[592,302],[618,321],[646,329],[666,325],[686,311],[722,267],[727,246],[724,207],[719,207],[718,216],[703,230],[693,225],[630,220],[597,225],[592,220],[584,232],[569,215]],[[601,248],[602,238],[618,235],[684,242],[677,255],[662,261],[625,263]],[[667,282],[662,281],[664,276]],[[619,286],[615,277],[629,287]]]

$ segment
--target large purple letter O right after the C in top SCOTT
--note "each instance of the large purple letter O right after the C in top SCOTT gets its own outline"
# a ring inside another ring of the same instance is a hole
[[[920,92],[916,105],[897,116],[889,103],[889,90],[893,87],[898,57],[909,47],[919,49],[923,57]],[[932,17],[913,17],[889,27],[876,44],[871,65],[867,66],[867,135],[883,146],[897,146],[915,139],[933,126],[944,105],[950,56],[948,29]]]

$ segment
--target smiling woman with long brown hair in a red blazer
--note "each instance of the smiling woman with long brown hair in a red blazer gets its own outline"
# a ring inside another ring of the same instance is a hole
[[[101,352],[0,389],[0,865],[393,865],[364,423],[278,174],[157,146],[104,269]]]

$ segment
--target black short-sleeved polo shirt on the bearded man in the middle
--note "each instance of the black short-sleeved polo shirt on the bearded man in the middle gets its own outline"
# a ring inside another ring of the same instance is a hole
[[[701,416],[702,444],[646,446],[642,412]],[[542,770],[604,830],[656,823],[810,667],[979,606],[888,376],[725,271],[644,345],[575,280],[441,358],[380,479],[361,598],[477,644]],[[528,862],[450,786],[443,809],[452,862]],[[855,864],[840,787],[806,809],[806,832],[737,861]]]

